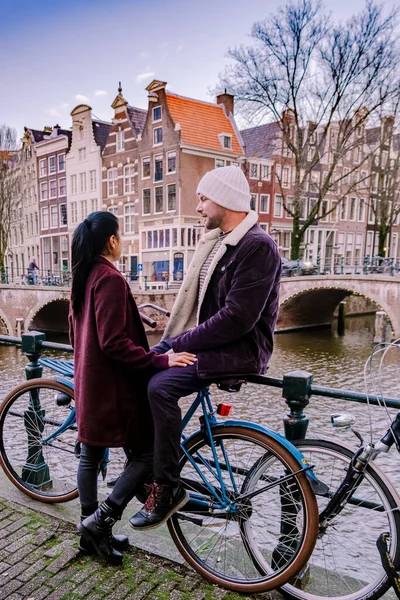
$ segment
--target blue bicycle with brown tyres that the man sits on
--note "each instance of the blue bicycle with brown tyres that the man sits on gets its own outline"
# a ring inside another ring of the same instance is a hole
[[[73,364],[41,362],[61,376],[28,381],[5,398],[0,463],[25,494],[65,502],[78,495]],[[221,385],[232,390],[231,383]],[[200,429],[187,435],[198,408]],[[225,404],[217,409],[228,412]],[[233,591],[284,585],[307,563],[318,534],[312,488],[318,481],[310,465],[272,430],[218,421],[208,389],[188,409],[182,432],[181,476],[190,500],[168,521],[179,552],[208,580]]]

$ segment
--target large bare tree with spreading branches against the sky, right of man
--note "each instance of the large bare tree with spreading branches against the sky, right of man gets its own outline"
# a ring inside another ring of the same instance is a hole
[[[279,125],[275,155],[294,169],[290,202],[276,175],[293,219],[291,258],[299,258],[308,227],[326,216],[327,194],[337,196],[337,205],[366,185],[366,125],[396,90],[395,26],[396,12],[385,16],[373,1],[335,25],[318,0],[289,0],[254,24],[252,46],[229,51],[233,64],[220,76],[221,85],[253,122]]]

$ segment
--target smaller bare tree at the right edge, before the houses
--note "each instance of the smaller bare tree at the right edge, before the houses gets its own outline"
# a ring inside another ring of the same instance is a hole
[[[371,148],[369,208],[378,237],[378,256],[386,256],[393,226],[400,215],[400,99],[393,114],[368,133]],[[375,244],[374,244],[375,245]]]

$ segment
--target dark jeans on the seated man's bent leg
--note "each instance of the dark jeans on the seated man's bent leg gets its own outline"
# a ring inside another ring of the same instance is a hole
[[[152,350],[165,354],[172,340],[164,340]],[[171,367],[154,375],[147,394],[154,421],[154,479],[176,487],[179,482],[179,444],[182,413],[178,401],[212,383],[197,376],[197,365]]]

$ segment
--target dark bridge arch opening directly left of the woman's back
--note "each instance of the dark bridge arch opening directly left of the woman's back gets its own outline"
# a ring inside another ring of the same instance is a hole
[[[41,302],[30,310],[25,322],[25,330],[30,329],[45,333],[67,333],[68,311],[68,298],[52,298],[44,304]]]

